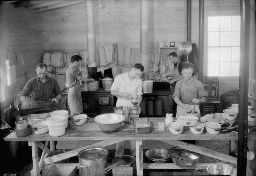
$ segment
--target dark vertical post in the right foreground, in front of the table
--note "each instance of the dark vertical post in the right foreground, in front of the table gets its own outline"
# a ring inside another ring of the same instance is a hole
[[[247,132],[248,132],[248,83],[250,58],[250,0],[240,0],[240,69],[237,175],[246,175]]]

